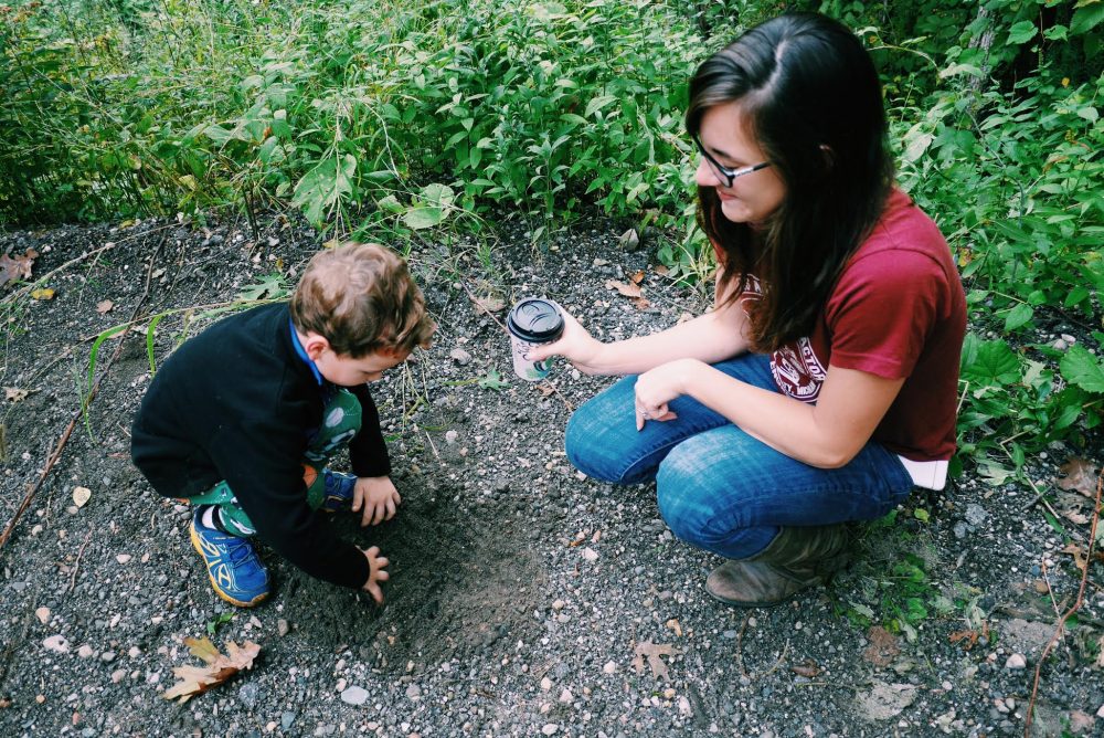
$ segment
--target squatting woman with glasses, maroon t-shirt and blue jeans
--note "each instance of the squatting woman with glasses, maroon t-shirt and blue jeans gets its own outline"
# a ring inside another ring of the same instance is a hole
[[[712,312],[612,344],[566,316],[530,356],[627,375],[572,417],[572,463],[655,479],[671,530],[729,559],[709,593],[772,605],[845,563],[846,523],[943,487],[965,297],[938,229],[893,186],[878,75],[840,23],[749,31],[698,68],[686,123]]]

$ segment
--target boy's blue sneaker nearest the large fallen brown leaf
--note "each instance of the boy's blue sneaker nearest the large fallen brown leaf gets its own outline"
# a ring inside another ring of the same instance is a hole
[[[226,602],[252,608],[268,597],[268,572],[248,539],[208,528],[201,510],[192,516],[191,538],[206,563],[211,587]]]

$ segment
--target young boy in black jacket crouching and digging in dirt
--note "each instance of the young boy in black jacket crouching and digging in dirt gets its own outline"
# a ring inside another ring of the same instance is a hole
[[[390,519],[401,502],[368,392],[436,326],[406,263],[374,244],[317,254],[290,304],[253,308],[188,340],[135,418],[131,456],[158,493],[195,505],[191,539],[215,592],[268,595],[250,539],[319,579],[383,601],[388,559],[339,540],[318,510]],[[355,476],[327,461],[344,443]]]

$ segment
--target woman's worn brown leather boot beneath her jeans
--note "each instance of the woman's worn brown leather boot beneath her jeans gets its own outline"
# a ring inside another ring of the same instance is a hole
[[[705,591],[737,608],[782,604],[847,565],[850,539],[849,527],[842,523],[783,528],[755,556],[713,569]]]

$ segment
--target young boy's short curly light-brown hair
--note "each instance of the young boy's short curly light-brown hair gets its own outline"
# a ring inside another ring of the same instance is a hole
[[[406,262],[375,243],[347,242],[315,255],[291,297],[291,320],[337,354],[403,355],[427,348],[437,325]]]

